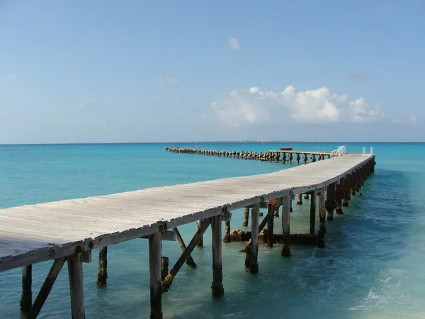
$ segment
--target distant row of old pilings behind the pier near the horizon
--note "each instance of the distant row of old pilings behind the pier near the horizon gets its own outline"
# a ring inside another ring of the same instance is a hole
[[[165,147],[167,152],[174,152],[179,154],[196,154],[196,155],[208,155],[217,157],[237,158],[237,159],[256,159],[268,162],[289,162],[292,164],[293,160],[300,164],[300,161],[307,164],[310,157],[310,162],[323,160],[325,158],[331,158],[334,156],[331,152],[303,152],[303,151],[268,151],[268,152],[256,152],[256,151],[226,151],[226,150],[206,150],[200,148],[190,147]],[[288,156],[287,156],[288,154]],[[302,155],[302,157],[301,157]],[[317,157],[317,158],[316,158]]]

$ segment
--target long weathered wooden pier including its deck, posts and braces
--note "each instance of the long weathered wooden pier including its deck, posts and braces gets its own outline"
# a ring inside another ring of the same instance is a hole
[[[265,158],[277,157],[278,152],[291,154],[288,150],[271,151]],[[199,154],[206,155],[206,152]],[[248,156],[244,152],[239,154],[242,155]],[[149,245],[151,318],[162,318],[162,293],[171,288],[174,276],[185,262],[196,267],[191,252],[197,245],[203,245],[203,233],[209,225],[212,228],[212,296],[224,295],[222,221],[225,221],[225,238],[232,240],[232,211],[239,208],[245,208],[244,212],[248,214],[251,211],[251,216],[246,216],[251,218],[251,232],[244,250],[245,264],[251,273],[261,272],[259,239],[267,242],[268,247],[281,242],[282,256],[290,256],[293,240],[290,208],[297,194],[310,194],[309,235],[316,236],[317,245],[324,247],[326,219],[333,220],[335,210],[339,209],[342,213],[350,196],[356,195],[375,167],[375,155],[330,154],[329,157],[268,174],[0,209],[0,272],[22,267],[21,310],[27,318],[36,318],[67,262],[72,318],[85,318],[83,264],[91,262],[92,250],[100,248],[98,285],[103,285],[108,276],[106,247],[146,238]],[[273,218],[280,207],[282,235],[275,239],[273,231],[264,235],[263,228],[268,224],[268,229],[273,229]],[[260,208],[268,208],[261,223]],[[317,215],[320,227],[316,233],[314,224]],[[197,222],[197,230],[186,245],[178,227],[193,222]],[[162,256],[162,240],[179,242],[182,254],[178,260],[171,261]],[[33,302],[32,264],[48,260],[52,260],[52,268]],[[174,266],[168,271],[169,262]]]

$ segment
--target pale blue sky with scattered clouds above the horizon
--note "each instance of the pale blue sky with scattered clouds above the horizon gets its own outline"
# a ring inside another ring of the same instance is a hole
[[[425,1],[0,1],[0,143],[424,141]]]

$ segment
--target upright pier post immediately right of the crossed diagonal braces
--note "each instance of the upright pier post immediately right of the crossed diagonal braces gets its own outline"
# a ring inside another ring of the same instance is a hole
[[[211,218],[212,233],[212,296],[221,297],[225,294],[223,289],[223,270],[222,270],[222,215]]]

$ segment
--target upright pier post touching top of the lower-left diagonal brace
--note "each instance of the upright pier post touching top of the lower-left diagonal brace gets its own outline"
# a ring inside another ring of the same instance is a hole
[[[71,293],[71,317],[72,319],[86,318],[84,307],[83,285],[83,256],[81,253],[67,257],[69,292]]]

